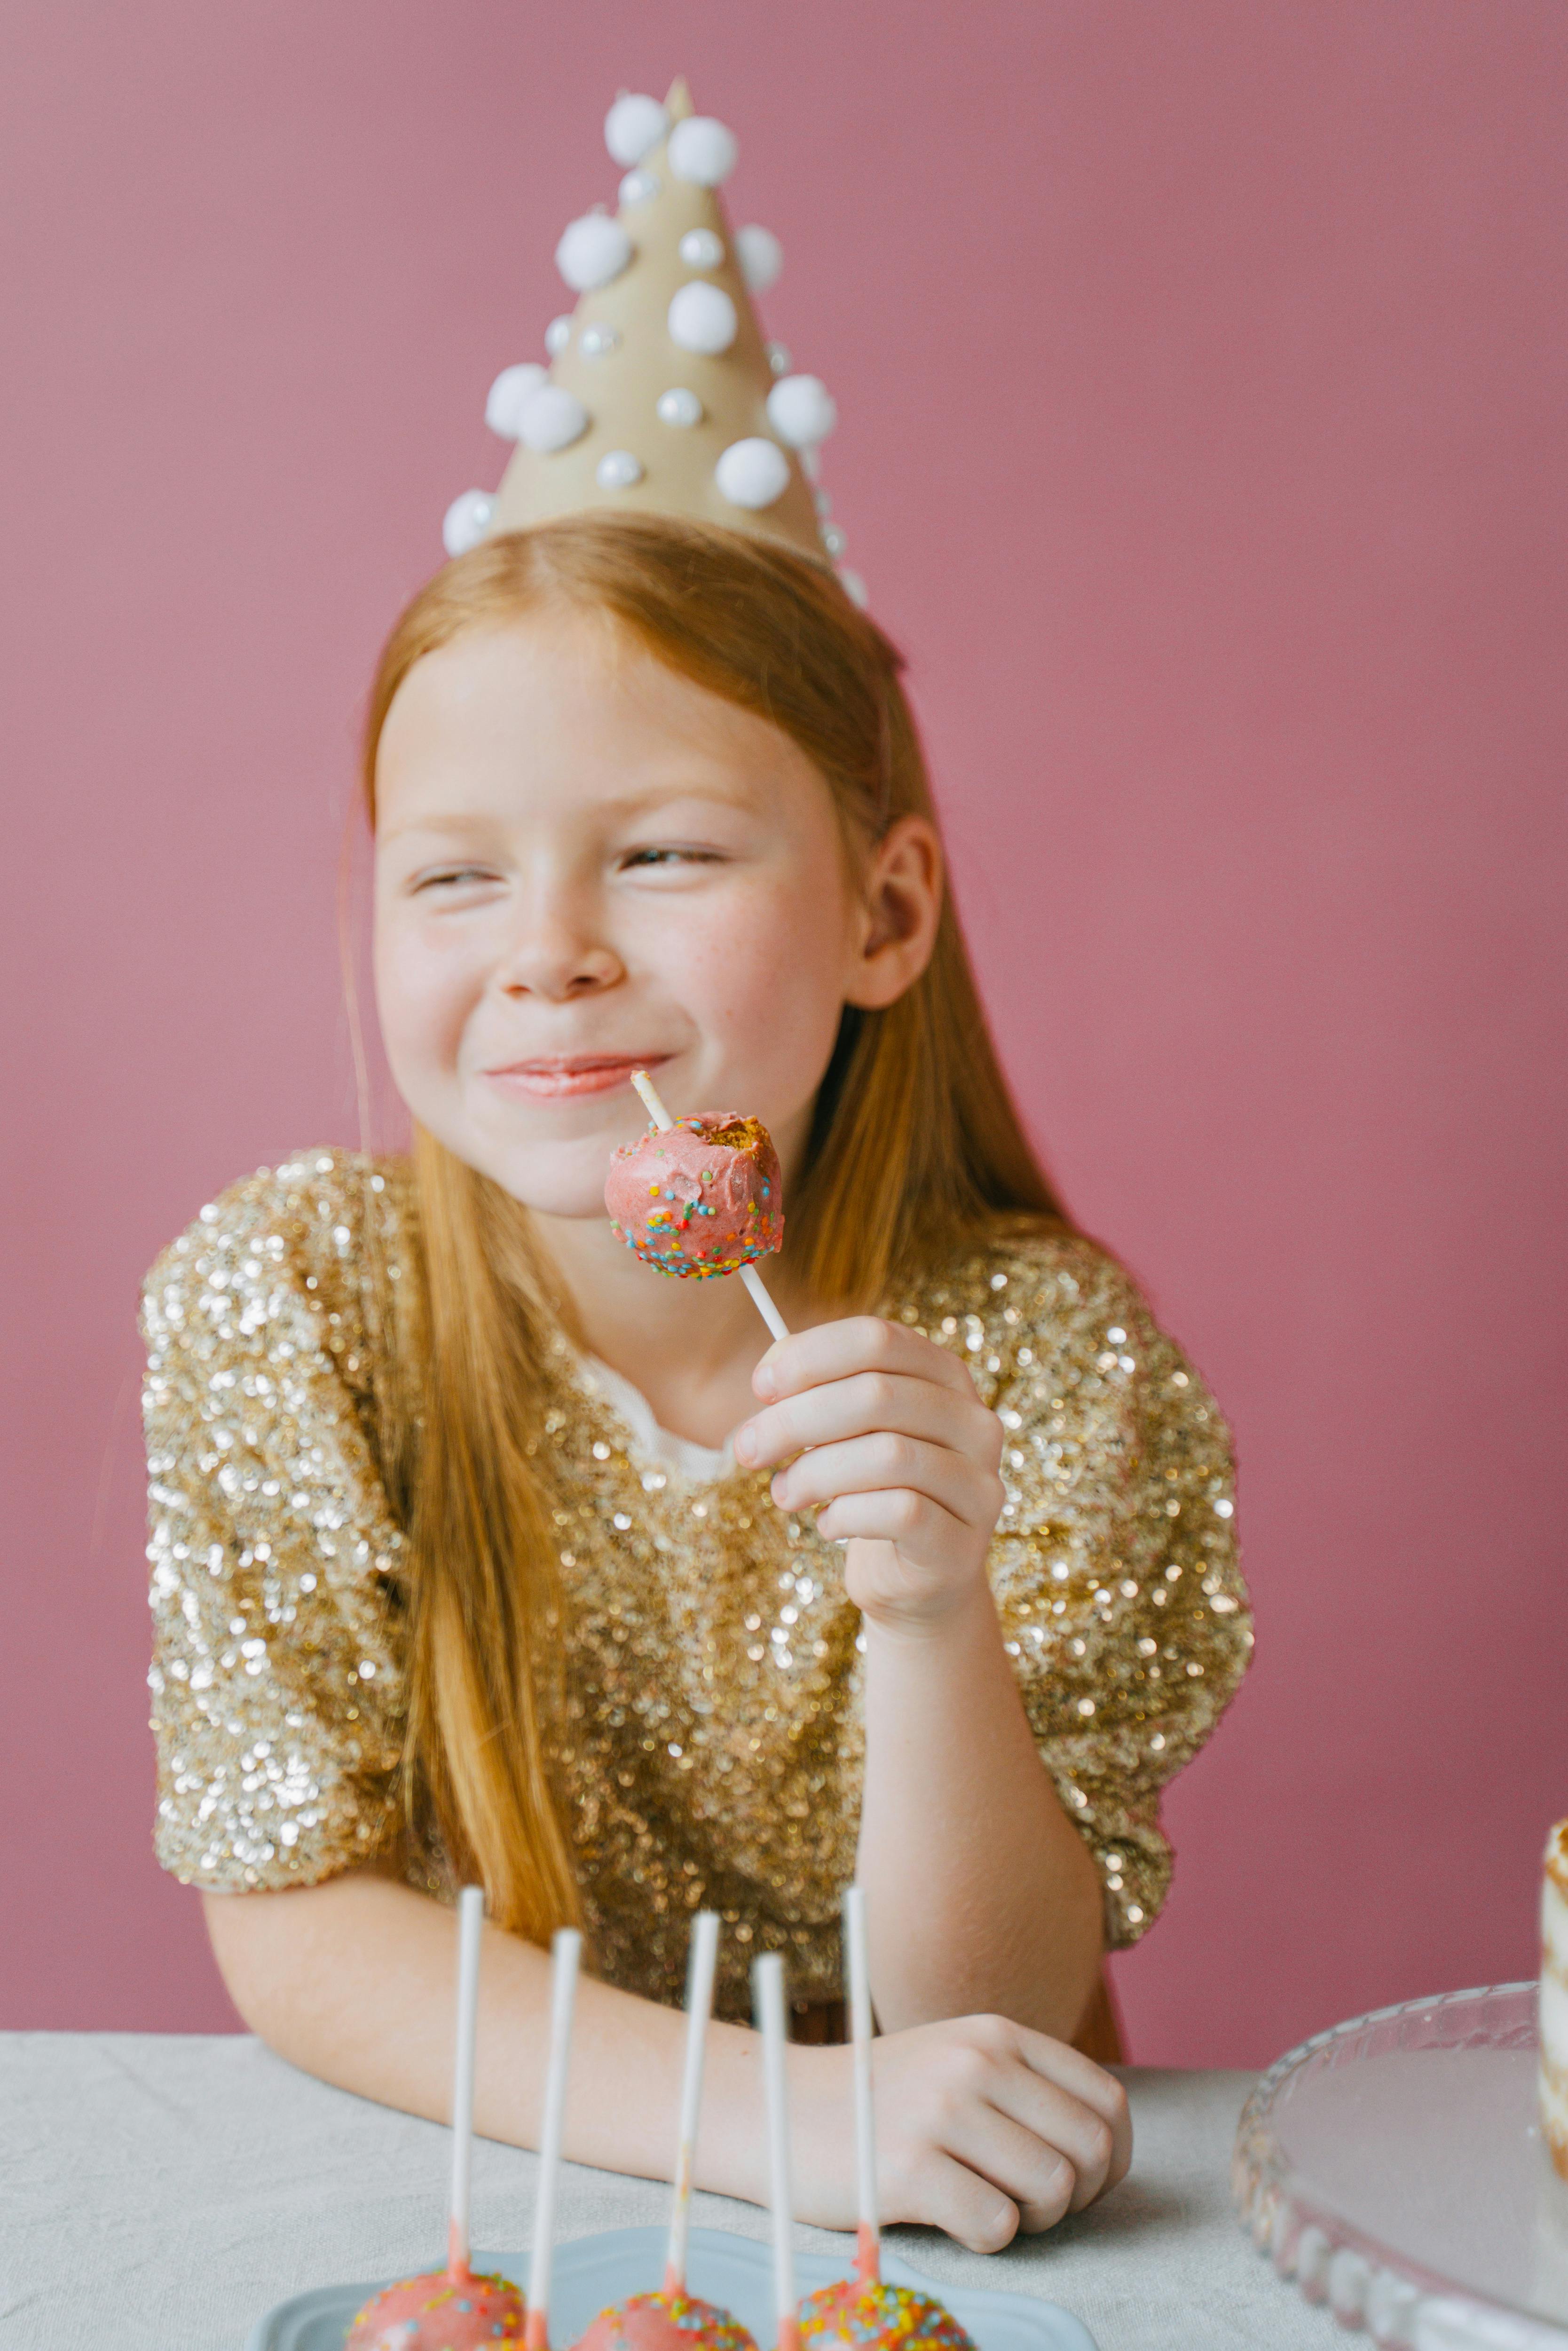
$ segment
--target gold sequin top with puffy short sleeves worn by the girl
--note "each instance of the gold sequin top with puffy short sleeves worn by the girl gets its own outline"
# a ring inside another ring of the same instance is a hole
[[[402,1531],[376,1467],[367,1215],[407,1267],[407,1164],[308,1152],[202,1208],[143,1288],[158,1857],[205,1888],[397,1853]],[[1171,1878],[1159,1789],[1253,1639],[1225,1422],[1077,1237],[971,1248],[886,1312],[954,1349],[1001,1418],[1006,1650],[1107,1942],[1135,1942]],[[797,1998],[832,1998],[863,1763],[839,1552],[776,1509],[766,1472],[649,1458],[564,1335],[545,1387],[552,1763],[597,1968],[679,2003],[710,1904],[719,2012],[750,2012],[762,1949],[788,1954]]]

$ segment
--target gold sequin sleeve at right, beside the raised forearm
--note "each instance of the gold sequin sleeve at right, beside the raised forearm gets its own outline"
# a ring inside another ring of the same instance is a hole
[[[1218,1723],[1253,1643],[1229,1432],[1093,1244],[1001,1253],[985,1288],[985,1310],[943,1335],[1006,1429],[992,1587],[1114,1949],[1166,1897],[1159,1789]]]

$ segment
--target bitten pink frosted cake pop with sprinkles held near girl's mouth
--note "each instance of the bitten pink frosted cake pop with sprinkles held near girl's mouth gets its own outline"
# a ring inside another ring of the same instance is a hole
[[[762,1119],[717,1110],[623,1143],[604,1206],[661,1274],[736,1274],[783,1241],[783,1178]]]

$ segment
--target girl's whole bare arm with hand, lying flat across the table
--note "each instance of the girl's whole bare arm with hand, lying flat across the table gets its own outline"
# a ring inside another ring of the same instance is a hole
[[[449,2118],[454,1914],[357,1871],[287,1893],[207,1895],[212,1944],[244,2022],[292,2064],[407,2114]],[[487,1928],[475,2125],[536,2144],[550,1961]],[[684,2020],[609,1984],[578,1989],[567,2102],[574,2163],[668,2179]],[[715,2024],[698,2186],[766,2198],[759,2041]],[[790,2050],[802,2219],[856,2222],[849,2050]],[[1114,2184],[1131,2137],[1121,2085],[1041,2034],[976,2017],[877,2041],[877,2170],[886,2219],[976,2252],[1048,2229]]]

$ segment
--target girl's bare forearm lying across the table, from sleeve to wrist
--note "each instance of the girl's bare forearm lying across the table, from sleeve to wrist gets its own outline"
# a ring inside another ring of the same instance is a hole
[[[292,2064],[404,2114],[451,2116],[456,1921],[393,1878],[355,1874],[289,1893],[209,1895],[207,1921],[244,2022]],[[475,2128],[538,2144],[550,1958],[487,1928]],[[585,1980],[571,2045],[567,2156],[670,2179],[684,2020]],[[827,2052],[797,2050],[799,2059]],[[715,2024],[698,2186],[762,2203],[766,2163],[757,2036]],[[832,2184],[837,2191],[837,2184]]]

